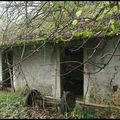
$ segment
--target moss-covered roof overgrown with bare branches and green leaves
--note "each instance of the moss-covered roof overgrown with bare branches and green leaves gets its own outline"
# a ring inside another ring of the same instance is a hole
[[[0,19],[4,23],[0,33],[2,43],[36,40],[51,33],[57,38],[54,39],[56,42],[58,38],[59,41],[70,41],[75,34],[86,38],[113,36],[120,32],[120,3],[117,1],[13,1],[6,4],[8,11]]]

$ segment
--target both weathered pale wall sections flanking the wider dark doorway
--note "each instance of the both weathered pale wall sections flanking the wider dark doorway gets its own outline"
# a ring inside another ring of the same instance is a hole
[[[84,95],[87,102],[96,103],[97,100],[111,99],[113,86],[120,87],[120,56],[114,56],[110,63],[96,74],[95,73],[106,64],[112,53],[118,38],[105,39],[97,51],[94,53],[89,63],[84,65]],[[87,47],[95,47],[94,43]],[[14,49],[14,64],[20,60],[21,48]],[[35,46],[25,48],[24,57],[34,51]],[[92,49],[84,49],[84,62],[90,57]],[[115,54],[120,53],[120,45]],[[60,54],[57,46],[47,45],[42,47],[37,53],[14,67],[14,85],[16,90],[23,89],[28,83],[29,87],[38,89],[45,95],[60,97]],[[88,90],[87,90],[88,89]],[[87,91],[87,94],[86,94]]]

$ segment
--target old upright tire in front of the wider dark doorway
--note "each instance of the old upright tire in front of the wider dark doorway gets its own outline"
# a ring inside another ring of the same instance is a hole
[[[73,92],[68,91],[62,95],[60,99],[60,112],[61,114],[65,114],[66,112],[71,112],[75,107],[75,95]]]

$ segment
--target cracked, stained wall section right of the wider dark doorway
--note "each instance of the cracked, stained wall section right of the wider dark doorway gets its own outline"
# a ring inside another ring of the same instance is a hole
[[[102,58],[102,56],[112,53],[117,41],[118,38],[104,39],[104,43],[100,45],[100,48],[95,52],[92,59],[89,60],[89,62],[94,63],[94,65],[90,63],[85,64],[84,71],[95,73],[99,70],[99,67],[95,66],[95,64],[100,67],[106,64],[111,55],[107,55],[104,58]],[[90,47],[92,45],[88,46]],[[91,49],[84,50],[84,61],[89,58],[91,53]],[[120,54],[120,45],[115,54]],[[86,101],[95,103],[99,100],[111,99],[114,94],[113,86],[118,85],[118,87],[120,87],[120,56],[114,56],[110,63],[100,72],[90,75],[88,73],[84,75],[84,95],[88,89]],[[89,87],[87,87],[88,85]]]

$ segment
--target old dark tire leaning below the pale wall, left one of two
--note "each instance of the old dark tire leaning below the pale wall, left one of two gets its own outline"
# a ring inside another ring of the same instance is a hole
[[[35,89],[30,90],[25,96],[25,105],[27,107],[36,106],[40,96],[41,96],[41,93],[38,92],[37,90]]]

